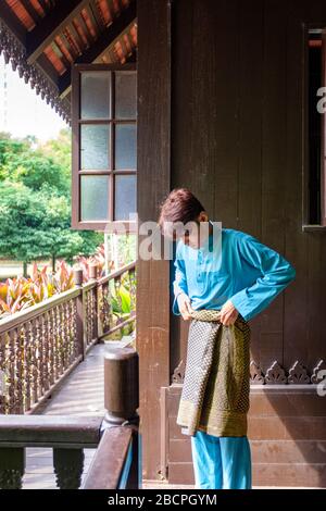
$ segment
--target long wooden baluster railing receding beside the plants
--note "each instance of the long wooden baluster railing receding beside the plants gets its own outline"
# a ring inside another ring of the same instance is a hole
[[[110,291],[127,278],[135,300],[135,266],[102,278],[92,266],[84,285],[75,270],[74,289],[0,321],[0,414],[37,411],[96,342],[135,321],[131,313],[113,326]]]

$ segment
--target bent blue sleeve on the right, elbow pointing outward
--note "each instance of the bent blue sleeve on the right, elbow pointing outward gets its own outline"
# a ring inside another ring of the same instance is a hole
[[[238,237],[237,250],[243,262],[261,272],[252,286],[230,298],[238,312],[248,321],[264,310],[294,279],[296,270],[278,252],[253,236]]]

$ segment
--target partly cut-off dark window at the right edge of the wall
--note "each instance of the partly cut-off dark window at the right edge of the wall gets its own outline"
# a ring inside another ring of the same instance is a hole
[[[325,158],[326,158],[326,30],[313,28],[308,37],[308,201],[309,225],[326,226]],[[323,110],[321,107],[324,105]]]

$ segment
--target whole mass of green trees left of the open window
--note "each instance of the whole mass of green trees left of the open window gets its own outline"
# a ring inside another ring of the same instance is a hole
[[[0,134],[0,257],[36,261],[89,256],[103,240],[71,229],[71,135],[43,146]]]

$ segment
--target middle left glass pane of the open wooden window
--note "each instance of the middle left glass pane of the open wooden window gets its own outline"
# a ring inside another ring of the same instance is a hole
[[[109,169],[109,125],[83,124],[80,129],[82,170]]]

